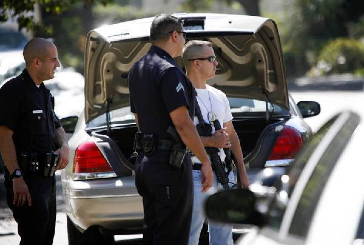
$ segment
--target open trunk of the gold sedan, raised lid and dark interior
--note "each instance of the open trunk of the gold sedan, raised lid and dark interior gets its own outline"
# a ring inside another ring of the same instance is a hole
[[[240,110],[240,116],[235,117],[233,113],[233,123],[245,162],[250,167],[264,167],[280,133],[277,126],[290,116],[277,25],[273,20],[253,16],[182,14],[178,17],[184,21],[186,42],[206,40],[214,44],[218,67],[215,77],[207,83],[239,102],[232,106],[232,111]],[[130,126],[134,115],[127,111],[130,104],[128,72],[151,46],[152,20],[127,21],[95,29],[88,33],[86,40],[86,123],[124,108],[119,119],[104,117],[108,130],[99,133],[108,134],[126,158],[132,153],[137,132],[135,126]],[[175,61],[184,69],[181,57]],[[240,103],[241,100],[257,100],[264,106],[257,109]],[[275,107],[280,111],[274,110]]]

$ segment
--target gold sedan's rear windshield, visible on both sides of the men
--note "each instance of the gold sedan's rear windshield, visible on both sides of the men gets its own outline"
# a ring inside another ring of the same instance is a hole
[[[245,98],[228,98],[230,103],[230,110],[234,117],[245,117],[245,116],[265,116],[266,103],[262,100],[256,99],[245,99]],[[268,110],[274,115],[289,115],[289,112],[284,108],[268,103]],[[110,111],[111,125],[123,125],[135,123],[134,114],[130,111],[130,106],[118,108]],[[106,114],[102,114],[97,118],[91,120],[87,127],[101,127],[106,126]]]

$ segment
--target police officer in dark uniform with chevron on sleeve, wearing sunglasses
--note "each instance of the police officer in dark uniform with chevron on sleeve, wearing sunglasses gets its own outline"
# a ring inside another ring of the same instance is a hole
[[[202,162],[202,189],[213,178],[209,158],[191,120],[195,90],[173,58],[185,44],[182,21],[161,14],[150,28],[151,48],[130,70],[131,111],[141,131],[136,186],[143,197],[144,244],[187,244],[192,213],[192,163],[181,166],[171,145],[178,136]],[[175,129],[171,137],[170,129]],[[177,134],[178,133],[178,134]],[[137,140],[138,141],[138,140]],[[172,142],[172,143],[169,143]],[[176,143],[177,142],[177,143]],[[184,144],[183,144],[184,143]]]

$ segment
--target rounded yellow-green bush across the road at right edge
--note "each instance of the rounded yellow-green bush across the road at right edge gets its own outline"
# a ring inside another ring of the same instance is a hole
[[[309,75],[363,74],[364,44],[356,39],[337,38],[328,42]]]

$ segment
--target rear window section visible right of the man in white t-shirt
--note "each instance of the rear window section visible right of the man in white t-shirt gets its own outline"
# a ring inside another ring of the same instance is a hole
[[[233,115],[241,116],[244,114],[252,114],[254,112],[266,112],[266,102],[263,100],[236,97],[228,97],[227,99],[229,100]],[[273,112],[273,114],[289,114],[289,112],[284,108],[275,104],[272,106],[271,103],[268,103],[268,110]]]

